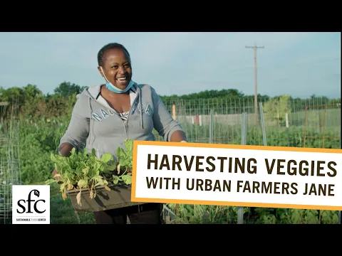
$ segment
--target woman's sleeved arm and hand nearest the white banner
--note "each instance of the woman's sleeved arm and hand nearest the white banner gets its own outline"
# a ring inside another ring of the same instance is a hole
[[[187,137],[180,124],[172,118],[172,115],[167,111],[167,108],[159,95],[157,95],[157,92],[155,92],[155,89],[151,87],[151,91],[154,105],[152,118],[157,132],[167,142],[186,142]]]

